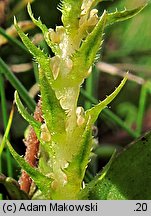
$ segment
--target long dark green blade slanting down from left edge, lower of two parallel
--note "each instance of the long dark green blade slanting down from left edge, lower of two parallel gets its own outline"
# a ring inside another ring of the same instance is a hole
[[[5,77],[9,80],[12,86],[19,92],[21,98],[25,101],[28,108],[33,112],[35,109],[35,101],[28,95],[27,90],[21,84],[21,82],[15,77],[15,75],[10,71],[5,62],[0,58],[0,73],[3,73]]]

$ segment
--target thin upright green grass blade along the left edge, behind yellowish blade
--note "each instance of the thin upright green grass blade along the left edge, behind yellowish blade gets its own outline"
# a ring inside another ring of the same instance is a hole
[[[2,107],[2,116],[3,116],[3,124],[4,124],[4,130],[6,130],[7,122],[8,122],[8,116],[7,116],[7,106],[6,106],[6,97],[5,97],[5,90],[4,90],[4,79],[2,74],[0,74],[0,94],[1,94],[1,107]],[[6,158],[7,158],[7,172],[8,176],[13,176],[13,170],[12,170],[12,163],[11,163],[11,154],[9,152],[9,149],[6,149]],[[1,161],[2,166],[2,161]],[[2,167],[1,167],[2,170]]]

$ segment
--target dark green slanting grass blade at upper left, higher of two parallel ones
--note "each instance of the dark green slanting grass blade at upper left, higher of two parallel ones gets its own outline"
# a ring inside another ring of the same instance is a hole
[[[16,38],[11,37],[8,35],[3,28],[0,27],[0,34],[3,35],[8,41],[10,41],[11,44],[17,45],[22,51],[29,53],[29,51],[26,49],[26,47]]]

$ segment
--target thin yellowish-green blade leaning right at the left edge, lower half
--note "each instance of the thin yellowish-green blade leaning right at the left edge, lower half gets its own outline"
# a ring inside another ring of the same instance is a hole
[[[13,120],[13,114],[14,114],[14,105],[13,105],[12,110],[10,112],[9,120],[8,120],[7,127],[5,130],[5,134],[4,134],[2,142],[0,144],[0,157],[1,157],[2,151],[5,147],[6,140],[8,139],[9,131],[10,131],[12,120]]]

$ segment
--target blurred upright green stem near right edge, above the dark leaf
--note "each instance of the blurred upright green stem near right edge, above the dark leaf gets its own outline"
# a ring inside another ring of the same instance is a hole
[[[136,132],[141,135],[142,132],[142,125],[143,125],[143,117],[145,113],[145,105],[146,105],[146,99],[147,99],[147,86],[146,84],[142,85],[140,97],[139,97],[139,107],[138,107],[138,115],[137,115],[137,128]]]

